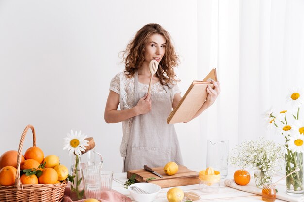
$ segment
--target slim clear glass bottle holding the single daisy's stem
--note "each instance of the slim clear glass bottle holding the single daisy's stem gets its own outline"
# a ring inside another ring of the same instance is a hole
[[[72,155],[72,173],[74,182],[71,184],[70,198],[73,201],[85,199],[84,174],[81,168],[81,158],[78,155]]]

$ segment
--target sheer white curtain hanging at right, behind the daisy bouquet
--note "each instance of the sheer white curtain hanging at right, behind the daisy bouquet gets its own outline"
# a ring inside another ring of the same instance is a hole
[[[266,129],[262,113],[289,109],[288,89],[304,90],[304,0],[198,1],[198,9],[210,16],[210,23],[198,21],[198,58],[208,61],[198,64],[205,72],[217,67],[222,90],[201,117],[202,139],[228,138],[230,148],[259,136],[283,142]]]

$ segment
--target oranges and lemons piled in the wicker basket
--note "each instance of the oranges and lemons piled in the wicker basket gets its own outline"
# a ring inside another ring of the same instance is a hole
[[[10,150],[0,157],[0,185],[14,185],[17,172],[18,152]],[[66,180],[68,168],[59,163],[56,155],[44,156],[39,147],[28,148],[20,163],[22,184],[56,184]]]

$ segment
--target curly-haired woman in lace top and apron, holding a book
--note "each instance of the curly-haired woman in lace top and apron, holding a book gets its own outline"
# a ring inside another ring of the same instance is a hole
[[[123,59],[125,70],[112,79],[104,112],[107,123],[122,122],[123,171],[142,169],[144,165],[163,167],[169,161],[182,165],[174,125],[166,122],[172,107],[182,98],[174,73],[178,56],[169,33],[159,24],[145,25],[127,45]],[[151,60],[159,66],[147,93]],[[207,88],[207,100],[193,118],[212,105],[220,93],[219,83],[212,83],[215,88]]]

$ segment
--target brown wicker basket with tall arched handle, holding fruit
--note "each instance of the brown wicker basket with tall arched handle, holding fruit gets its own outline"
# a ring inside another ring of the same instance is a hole
[[[22,133],[17,159],[15,185],[0,186],[0,202],[60,202],[67,186],[64,181],[58,184],[22,185],[20,182],[20,163],[22,147],[28,129],[33,132],[33,146],[36,146],[36,134],[32,125],[27,125]]]

